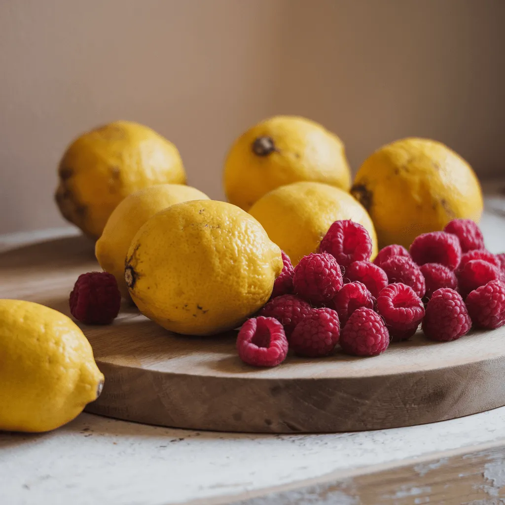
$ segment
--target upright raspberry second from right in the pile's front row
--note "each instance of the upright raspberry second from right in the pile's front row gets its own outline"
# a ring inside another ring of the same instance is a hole
[[[424,334],[431,340],[449,342],[466,335],[471,327],[472,321],[461,295],[447,287],[437,289],[426,306]]]

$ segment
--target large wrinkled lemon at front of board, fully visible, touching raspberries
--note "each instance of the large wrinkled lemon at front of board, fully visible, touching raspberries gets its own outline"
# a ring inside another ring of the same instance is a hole
[[[281,251],[256,219],[223,201],[194,200],[138,230],[125,279],[148,318],[176,333],[210,335],[263,307],[281,270]]]

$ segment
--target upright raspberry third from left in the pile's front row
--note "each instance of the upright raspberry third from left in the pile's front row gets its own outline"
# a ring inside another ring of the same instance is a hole
[[[361,307],[347,321],[340,346],[354,356],[377,356],[389,345],[389,333],[382,318],[371,309]]]

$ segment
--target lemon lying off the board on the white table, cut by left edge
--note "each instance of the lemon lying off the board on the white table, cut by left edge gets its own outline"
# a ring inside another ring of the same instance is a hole
[[[58,428],[104,383],[79,327],[30,301],[0,299],[0,363],[0,430]]]

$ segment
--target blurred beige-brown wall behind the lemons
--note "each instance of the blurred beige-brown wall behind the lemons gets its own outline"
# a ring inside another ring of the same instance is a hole
[[[61,226],[66,145],[129,119],[222,198],[233,139],[274,114],[321,122],[352,168],[432,137],[505,175],[503,0],[0,2],[0,233]]]

